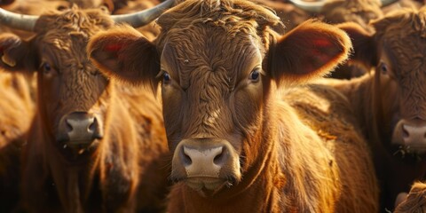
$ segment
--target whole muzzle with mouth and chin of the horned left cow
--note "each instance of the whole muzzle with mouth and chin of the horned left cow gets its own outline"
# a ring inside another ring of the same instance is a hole
[[[91,146],[95,139],[103,138],[101,122],[94,114],[74,112],[62,117],[59,122],[58,142],[64,148],[81,152]]]

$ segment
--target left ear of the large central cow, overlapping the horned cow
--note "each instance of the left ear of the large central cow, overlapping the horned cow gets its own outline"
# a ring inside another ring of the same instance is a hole
[[[160,59],[154,43],[136,29],[120,26],[91,38],[87,52],[100,71],[125,83],[150,84],[156,91]]]

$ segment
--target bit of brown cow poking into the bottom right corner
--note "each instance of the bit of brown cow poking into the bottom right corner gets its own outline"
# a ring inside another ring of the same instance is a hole
[[[401,193],[402,201],[396,205],[395,213],[426,212],[426,184],[415,182],[410,193]]]

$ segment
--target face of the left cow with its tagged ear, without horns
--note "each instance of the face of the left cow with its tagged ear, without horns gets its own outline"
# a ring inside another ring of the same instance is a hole
[[[106,21],[105,21],[106,20]],[[108,80],[85,53],[89,37],[111,24],[98,11],[76,8],[42,16],[30,42],[0,38],[2,67],[37,71],[38,111],[43,129],[64,154],[75,156],[95,147],[103,137]]]

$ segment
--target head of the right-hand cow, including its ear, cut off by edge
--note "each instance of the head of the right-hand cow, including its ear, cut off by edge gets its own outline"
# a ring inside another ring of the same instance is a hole
[[[376,33],[341,26],[354,39],[355,55],[375,67],[375,128],[403,153],[426,151],[426,10],[394,12],[373,23]]]

